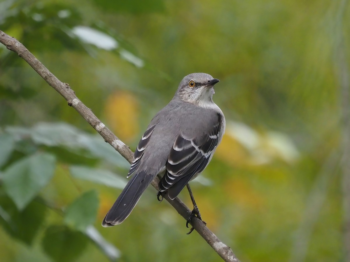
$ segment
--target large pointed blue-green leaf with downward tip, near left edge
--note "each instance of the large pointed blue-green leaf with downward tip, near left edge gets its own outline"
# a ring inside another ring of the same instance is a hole
[[[56,159],[39,153],[9,166],[2,175],[3,187],[19,210],[23,210],[54,175]]]

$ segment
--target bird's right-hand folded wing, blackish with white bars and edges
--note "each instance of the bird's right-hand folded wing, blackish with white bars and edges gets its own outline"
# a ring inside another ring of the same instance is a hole
[[[169,189],[168,195],[174,199],[188,181],[207,166],[221,138],[220,132],[219,117],[202,138],[188,138],[180,134],[170,150],[166,173],[159,183],[159,190]]]

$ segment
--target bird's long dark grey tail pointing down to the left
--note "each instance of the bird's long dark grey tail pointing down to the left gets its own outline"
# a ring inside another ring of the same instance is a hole
[[[152,182],[153,176],[145,172],[134,174],[129,180],[112,208],[106,214],[102,221],[103,227],[119,225],[123,222],[134,209],[142,193]]]

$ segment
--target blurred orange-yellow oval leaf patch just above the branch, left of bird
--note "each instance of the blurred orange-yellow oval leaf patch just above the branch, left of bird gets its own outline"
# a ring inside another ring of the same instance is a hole
[[[126,91],[111,94],[105,105],[107,122],[117,137],[131,141],[139,132],[138,101]]]

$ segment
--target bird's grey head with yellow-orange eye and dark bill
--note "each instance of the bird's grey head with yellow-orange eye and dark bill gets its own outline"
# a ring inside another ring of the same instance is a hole
[[[182,101],[207,107],[213,103],[214,85],[219,79],[205,73],[189,74],[182,79],[176,91]]]

